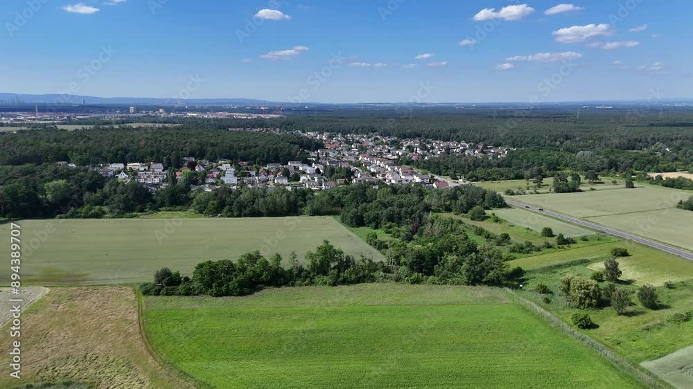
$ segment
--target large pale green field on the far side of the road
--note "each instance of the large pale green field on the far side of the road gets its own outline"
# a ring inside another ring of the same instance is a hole
[[[594,192],[527,194],[512,199],[693,250],[693,212],[676,209],[693,192],[642,186]]]

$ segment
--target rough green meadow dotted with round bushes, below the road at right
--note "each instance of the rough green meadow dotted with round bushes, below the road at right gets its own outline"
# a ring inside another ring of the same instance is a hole
[[[692,345],[693,322],[674,323],[669,318],[693,309],[693,262],[647,246],[620,242],[566,251],[560,259],[555,255],[536,255],[510,264],[529,269],[521,295],[570,323],[572,314],[584,310],[571,307],[559,292],[561,278],[568,274],[589,278],[595,270],[603,269],[602,261],[610,256],[614,246],[626,247],[631,253],[630,257],[617,258],[623,271],[622,281],[617,287],[633,293],[633,305],[623,315],[617,315],[613,307],[588,309],[586,312],[597,327],[580,331],[626,357],[634,365],[659,359]],[[578,261],[581,259],[586,260]],[[542,264],[546,266],[541,267]],[[666,281],[672,281],[672,284],[662,286]],[[551,289],[553,294],[550,295],[550,302],[543,299],[545,295],[533,291],[537,284],[545,284]],[[635,292],[643,284],[657,287],[658,309],[646,309],[638,302]],[[600,282],[599,286],[606,287],[606,282]],[[689,364],[693,363],[693,354],[690,356]]]

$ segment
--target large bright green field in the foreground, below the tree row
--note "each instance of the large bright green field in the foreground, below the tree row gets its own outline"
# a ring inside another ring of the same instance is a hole
[[[367,284],[145,298],[165,361],[218,388],[631,388],[499,289]]]

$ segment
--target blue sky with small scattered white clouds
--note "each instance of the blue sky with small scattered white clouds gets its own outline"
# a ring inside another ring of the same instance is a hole
[[[692,13],[690,0],[3,0],[0,91],[295,102],[692,98]]]

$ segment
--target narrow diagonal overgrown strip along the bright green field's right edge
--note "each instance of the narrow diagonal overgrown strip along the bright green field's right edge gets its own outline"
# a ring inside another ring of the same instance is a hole
[[[523,298],[522,296],[518,295],[518,293],[515,293],[509,288],[503,289],[507,291],[507,293],[510,296],[514,297],[516,301],[520,302],[521,305],[527,307],[529,310],[533,311],[538,316],[545,318],[550,323],[550,325],[552,325],[552,327],[560,329],[562,332],[564,332],[571,338],[575,339],[576,341],[579,341],[587,347],[590,347],[592,350],[595,350],[598,354],[600,354],[607,361],[609,361],[609,363],[611,363],[611,365],[613,365],[617,370],[620,370],[624,374],[633,377],[634,379],[644,384],[644,386],[648,388],[669,388],[669,386],[665,386],[665,384],[658,378],[653,377],[650,374],[647,374],[646,372],[643,372],[642,370],[636,368],[631,363],[629,363],[629,361],[626,361],[621,356],[617,355],[615,352],[608,350],[608,348],[605,345],[602,345],[602,343],[595,341],[593,338],[590,338],[590,336],[582,334],[576,329],[565,324],[563,320],[552,314],[550,311],[547,311],[546,309],[539,307],[538,305],[536,305],[536,303],[527,300],[526,298]]]

